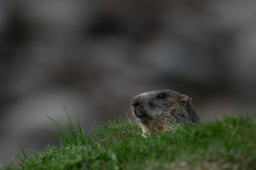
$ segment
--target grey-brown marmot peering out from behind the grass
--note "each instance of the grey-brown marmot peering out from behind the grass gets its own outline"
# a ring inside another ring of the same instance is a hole
[[[169,89],[149,91],[132,99],[132,113],[139,120],[144,133],[170,130],[169,125],[198,123],[192,98]]]

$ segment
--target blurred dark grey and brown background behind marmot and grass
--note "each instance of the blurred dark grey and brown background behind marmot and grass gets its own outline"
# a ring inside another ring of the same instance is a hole
[[[191,96],[203,121],[230,98],[254,114],[255,21],[253,0],[0,1],[0,162],[54,143],[46,115],[65,125],[63,103],[86,132],[157,89]]]

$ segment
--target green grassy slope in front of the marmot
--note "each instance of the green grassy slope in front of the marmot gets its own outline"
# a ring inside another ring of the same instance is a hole
[[[18,166],[6,169],[256,169],[256,118],[223,118],[144,138],[132,120],[97,127],[85,135],[79,119],[50,135],[58,146],[28,157],[21,147]]]

